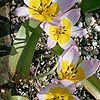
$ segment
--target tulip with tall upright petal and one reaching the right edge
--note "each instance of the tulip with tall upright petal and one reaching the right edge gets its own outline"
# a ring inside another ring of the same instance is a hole
[[[93,75],[100,65],[98,59],[83,60],[78,64],[79,51],[76,46],[66,50],[58,60],[57,73],[61,80],[71,80],[73,82],[82,81]]]

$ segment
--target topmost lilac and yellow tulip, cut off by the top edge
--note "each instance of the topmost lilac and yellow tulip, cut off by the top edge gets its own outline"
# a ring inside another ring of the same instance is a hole
[[[57,15],[69,10],[75,4],[75,0],[24,0],[24,3],[27,7],[17,8],[15,15],[54,24]]]

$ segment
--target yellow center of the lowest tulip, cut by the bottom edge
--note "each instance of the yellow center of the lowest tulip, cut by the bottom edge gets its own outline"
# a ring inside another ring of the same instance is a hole
[[[45,100],[74,100],[67,88],[53,87],[45,95]]]

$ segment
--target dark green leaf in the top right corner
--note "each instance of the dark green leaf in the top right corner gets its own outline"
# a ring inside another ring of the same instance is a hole
[[[84,13],[100,9],[100,0],[82,0],[81,8]]]

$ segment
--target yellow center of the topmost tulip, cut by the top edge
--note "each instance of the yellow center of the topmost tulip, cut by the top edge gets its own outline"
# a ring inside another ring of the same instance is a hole
[[[30,0],[28,11],[34,19],[50,21],[59,12],[59,5],[52,0]]]

